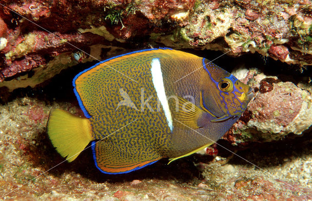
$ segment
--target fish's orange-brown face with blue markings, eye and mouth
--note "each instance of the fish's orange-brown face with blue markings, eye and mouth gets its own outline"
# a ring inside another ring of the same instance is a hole
[[[203,66],[201,106],[217,117],[214,121],[240,116],[253,98],[251,87],[207,59]]]

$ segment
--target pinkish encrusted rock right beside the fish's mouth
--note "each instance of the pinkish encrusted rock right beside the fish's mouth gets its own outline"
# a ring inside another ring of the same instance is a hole
[[[247,110],[224,139],[234,145],[271,142],[293,133],[302,134],[312,126],[312,86],[283,82],[256,69],[233,72],[256,92]]]

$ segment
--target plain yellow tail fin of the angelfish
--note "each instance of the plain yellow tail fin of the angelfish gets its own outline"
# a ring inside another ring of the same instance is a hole
[[[53,146],[68,162],[74,161],[89,142],[94,140],[87,118],[59,109],[50,111],[47,133]]]

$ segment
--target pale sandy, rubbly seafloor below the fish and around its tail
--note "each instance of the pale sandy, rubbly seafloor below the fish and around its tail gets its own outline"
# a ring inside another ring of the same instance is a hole
[[[311,135],[215,159],[193,155],[124,175],[100,173],[90,149],[64,162],[45,133],[51,107],[82,115],[78,104],[39,91],[0,106],[0,198],[4,200],[300,200],[312,197]],[[304,143],[302,143],[304,141]],[[222,144],[219,142],[218,144]],[[228,147],[229,148],[229,147]],[[233,150],[233,147],[230,149]]]

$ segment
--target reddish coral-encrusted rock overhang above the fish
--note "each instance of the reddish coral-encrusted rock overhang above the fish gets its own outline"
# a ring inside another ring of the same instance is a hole
[[[258,52],[298,68],[312,64],[309,1],[4,1],[0,6],[0,87],[10,90],[42,83],[59,73],[56,68],[77,64],[73,56],[56,63],[60,54],[83,51],[87,60],[80,62],[107,56],[105,48],[93,55],[94,46]],[[24,80],[37,73],[30,83]],[[11,80],[18,84],[6,83]]]

